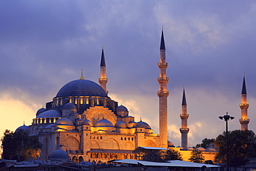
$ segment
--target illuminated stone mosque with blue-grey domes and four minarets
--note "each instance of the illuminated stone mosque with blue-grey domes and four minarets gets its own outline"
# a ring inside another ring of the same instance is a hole
[[[181,105],[181,146],[174,145],[167,140],[167,91],[168,78],[166,77],[167,62],[165,60],[165,40],[163,30],[161,35],[159,68],[159,134],[153,132],[149,124],[140,120],[134,121],[129,116],[129,110],[118,105],[118,102],[108,96],[106,64],[104,51],[100,62],[100,78],[97,84],[79,80],[65,84],[53,101],[46,102],[46,108],[37,111],[32,125],[21,126],[29,134],[39,136],[42,143],[40,159],[47,161],[56,150],[66,152],[69,159],[81,161],[110,161],[113,159],[135,159],[132,153],[136,147],[164,147],[174,148],[188,160],[191,147],[188,147],[188,114],[183,89]],[[244,94],[243,94],[244,93]],[[248,125],[245,81],[242,89],[242,118],[240,123],[246,128]],[[246,125],[247,124],[247,125]],[[61,147],[61,150],[60,150]],[[217,153],[213,148],[200,148],[206,159],[213,159]],[[66,156],[64,157],[66,159]]]

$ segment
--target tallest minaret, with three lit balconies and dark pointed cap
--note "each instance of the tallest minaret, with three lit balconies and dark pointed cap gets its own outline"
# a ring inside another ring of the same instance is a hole
[[[160,62],[158,63],[159,72],[159,91],[157,95],[159,97],[159,136],[160,136],[160,147],[167,148],[168,141],[168,130],[167,130],[167,97],[169,96],[169,91],[167,91],[167,82],[169,78],[166,78],[166,69],[168,63],[165,62],[165,39],[163,37],[163,29],[162,29],[162,37],[161,37],[161,45],[160,45]]]

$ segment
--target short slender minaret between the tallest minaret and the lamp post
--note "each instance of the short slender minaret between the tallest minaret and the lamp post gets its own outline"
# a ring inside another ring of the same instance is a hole
[[[183,98],[181,103],[181,147],[183,149],[188,149],[188,132],[190,129],[188,128],[188,114],[187,114],[187,101],[185,97],[185,89],[183,88]]]

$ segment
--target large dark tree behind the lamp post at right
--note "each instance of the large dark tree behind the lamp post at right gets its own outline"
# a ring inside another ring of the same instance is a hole
[[[218,163],[226,163],[226,132],[219,134],[214,145],[219,153],[215,156]],[[228,132],[228,164],[230,166],[245,165],[248,159],[256,156],[256,136],[251,130],[234,130]]]

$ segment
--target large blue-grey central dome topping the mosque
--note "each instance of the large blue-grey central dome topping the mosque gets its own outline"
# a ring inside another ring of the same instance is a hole
[[[60,89],[56,98],[68,96],[97,96],[108,98],[104,89],[90,80],[73,80],[68,82]]]

